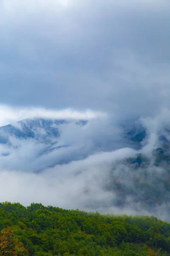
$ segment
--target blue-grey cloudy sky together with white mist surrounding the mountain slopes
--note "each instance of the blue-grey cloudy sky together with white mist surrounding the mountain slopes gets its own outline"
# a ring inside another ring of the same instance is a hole
[[[142,122],[142,153],[150,157],[170,123],[169,23],[167,0],[0,1],[0,126],[35,117],[90,120],[84,128],[61,126],[57,143],[69,147],[45,157],[37,158],[44,143],[11,134],[18,148],[0,145],[1,154],[10,151],[0,157],[0,179],[11,184],[0,201],[87,209],[94,200],[101,211],[108,201],[105,209],[120,212],[109,208],[113,194],[102,183],[113,163],[137,154],[122,143],[120,123]],[[62,157],[70,162],[48,168]],[[122,175],[119,165],[116,172]],[[129,205],[124,212],[134,212]]]

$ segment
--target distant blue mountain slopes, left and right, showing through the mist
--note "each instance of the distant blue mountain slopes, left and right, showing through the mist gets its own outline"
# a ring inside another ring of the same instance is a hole
[[[67,151],[60,160],[57,160],[59,150],[69,148],[69,143],[68,145],[67,143],[61,145],[59,139],[62,125],[70,123],[84,127],[88,124],[88,121],[25,119],[0,127],[0,144],[6,145],[8,148],[17,149],[18,145],[15,143],[15,139],[21,142],[34,140],[36,143],[41,143],[43,147],[37,157],[53,152],[53,157],[48,158],[50,167],[56,164],[68,163],[72,160],[83,159],[88,154],[95,153],[93,150],[88,153],[88,148],[85,151],[82,150],[82,152],[79,148],[75,148],[74,151]],[[135,210],[143,208],[147,209],[148,212],[154,212],[157,207],[166,204],[170,211],[169,131],[164,130],[159,134],[158,147],[155,147],[149,155],[143,151],[144,146],[147,145],[149,135],[142,125],[135,126],[133,124],[128,128],[124,125],[123,131],[122,140],[125,141],[125,145],[129,145],[129,147],[135,148],[137,151],[135,157],[129,157],[113,164],[107,182],[103,183],[106,191],[114,193],[112,204],[118,207],[125,207],[128,206],[130,200],[130,205],[133,205]],[[102,148],[100,150],[102,151]],[[62,151],[60,152],[62,156],[63,153]],[[8,154],[10,154],[8,151],[2,153],[4,157],[8,156]],[[55,154],[56,159],[54,157]],[[47,168],[47,166],[45,167]],[[40,165],[39,171],[41,169]]]

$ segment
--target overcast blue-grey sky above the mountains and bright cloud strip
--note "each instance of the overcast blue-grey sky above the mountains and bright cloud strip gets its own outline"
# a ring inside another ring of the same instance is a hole
[[[154,115],[170,107],[166,0],[2,0],[0,103]]]

